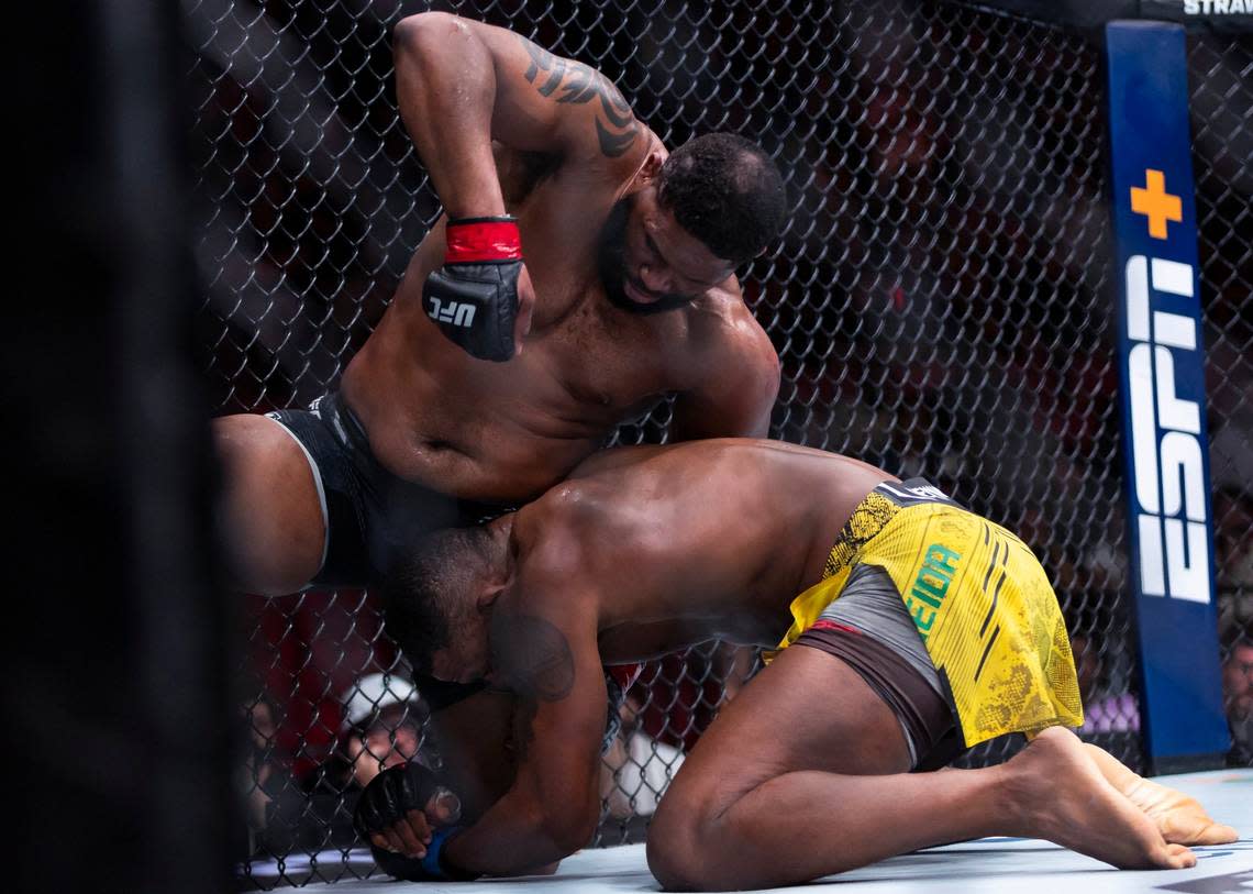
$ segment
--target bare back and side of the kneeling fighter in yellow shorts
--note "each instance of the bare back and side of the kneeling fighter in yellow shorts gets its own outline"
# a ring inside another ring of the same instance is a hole
[[[865,463],[767,440],[599,454],[517,514],[519,598],[595,599],[606,663],[712,637],[773,644],[885,480]],[[553,593],[544,581],[564,584]]]

